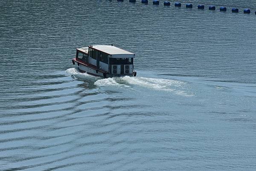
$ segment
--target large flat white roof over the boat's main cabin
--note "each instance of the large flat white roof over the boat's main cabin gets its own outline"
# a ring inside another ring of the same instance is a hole
[[[111,55],[111,58],[134,58],[135,57],[134,53],[128,52],[124,49],[120,49],[116,46],[90,45],[89,47],[108,53],[109,55]]]

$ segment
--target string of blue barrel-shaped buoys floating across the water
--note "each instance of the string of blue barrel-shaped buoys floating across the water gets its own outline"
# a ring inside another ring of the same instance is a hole
[[[124,0],[117,0],[118,2],[124,2]],[[148,0],[137,0],[140,1],[142,4],[148,4]],[[160,4],[160,0],[151,0],[153,5],[159,5]],[[164,6],[171,6],[171,1],[172,0],[163,0],[163,5]],[[136,3],[136,0],[129,0],[129,2],[131,3]],[[198,9],[204,9],[204,5],[209,5],[209,10],[211,11],[215,11],[216,10],[216,6],[220,6],[219,11],[220,12],[227,12],[227,7],[231,7],[231,12],[232,13],[238,13],[239,9],[238,8],[243,8],[244,9],[244,14],[250,14],[250,9],[256,9],[256,8],[252,8],[252,7],[247,7],[247,6],[230,6],[230,5],[221,5],[221,4],[213,4],[213,3],[203,3],[203,2],[192,2],[192,1],[176,1],[174,3],[175,7],[181,7],[181,3],[185,4],[185,7],[187,9],[192,9],[193,8],[193,4],[199,4],[197,6]],[[203,5],[204,4],[204,5]],[[227,6],[227,7],[226,7]],[[255,12],[256,14],[256,12]]]

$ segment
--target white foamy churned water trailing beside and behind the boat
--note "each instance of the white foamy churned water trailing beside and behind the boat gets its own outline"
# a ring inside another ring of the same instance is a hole
[[[113,78],[100,78],[89,75],[87,73],[81,73],[76,68],[70,68],[66,70],[70,75],[80,79],[90,79],[94,81],[94,85],[97,87],[125,87],[133,89],[135,86],[145,87],[154,90],[175,92],[175,94],[181,96],[193,96],[188,92],[187,83],[184,81],[177,81],[172,79],[163,78],[146,78],[146,77],[113,77]]]

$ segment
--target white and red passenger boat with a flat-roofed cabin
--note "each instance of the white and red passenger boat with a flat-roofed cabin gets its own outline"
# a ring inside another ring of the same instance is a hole
[[[136,76],[134,70],[135,54],[111,45],[89,45],[76,49],[73,64],[79,71],[104,78]]]

